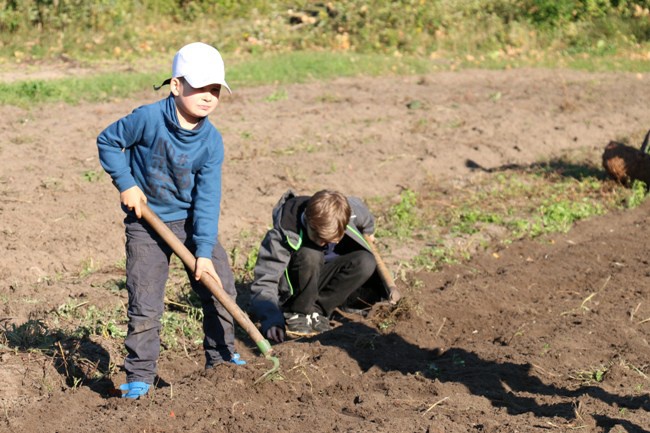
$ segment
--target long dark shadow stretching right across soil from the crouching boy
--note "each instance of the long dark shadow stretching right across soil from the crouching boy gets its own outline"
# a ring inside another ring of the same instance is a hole
[[[385,372],[418,373],[443,383],[461,383],[472,395],[487,398],[494,407],[504,408],[512,415],[532,413],[536,417],[576,420],[577,399],[582,396],[590,396],[617,408],[650,410],[647,395],[616,395],[598,386],[582,386],[575,390],[557,387],[544,383],[534,375],[533,366],[528,363],[486,360],[460,347],[452,347],[444,352],[425,349],[407,342],[398,334],[381,334],[359,322],[345,321],[343,326],[332,332],[300,341],[318,341],[324,346],[341,348],[364,371],[378,367]],[[537,396],[564,401],[539,404]],[[628,433],[650,433],[624,419],[598,415],[594,416],[594,421],[598,427],[605,429],[619,425],[624,426]]]

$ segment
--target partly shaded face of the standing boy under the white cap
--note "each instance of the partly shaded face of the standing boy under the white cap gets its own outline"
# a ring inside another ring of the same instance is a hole
[[[210,84],[195,89],[185,80],[173,78],[170,86],[176,100],[179,121],[185,129],[193,129],[219,104],[220,84]]]

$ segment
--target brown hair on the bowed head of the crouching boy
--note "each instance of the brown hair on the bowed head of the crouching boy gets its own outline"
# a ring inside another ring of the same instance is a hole
[[[348,199],[337,191],[324,189],[307,202],[307,225],[325,242],[339,241],[345,233],[352,210]]]

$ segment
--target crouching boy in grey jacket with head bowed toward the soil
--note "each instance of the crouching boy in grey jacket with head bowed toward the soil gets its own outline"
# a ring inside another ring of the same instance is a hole
[[[251,285],[250,310],[262,334],[282,342],[285,333],[328,331],[335,308],[385,297],[363,238],[374,228],[374,217],[356,197],[286,192],[273,209],[273,228],[260,246]]]

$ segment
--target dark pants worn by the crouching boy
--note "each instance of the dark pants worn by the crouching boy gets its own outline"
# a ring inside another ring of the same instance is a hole
[[[325,263],[323,249],[303,240],[287,269],[294,295],[284,304],[285,311],[329,317],[375,272],[372,253],[347,236],[334,251],[339,255]]]

